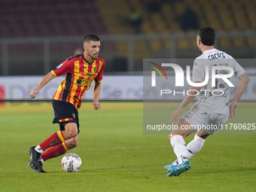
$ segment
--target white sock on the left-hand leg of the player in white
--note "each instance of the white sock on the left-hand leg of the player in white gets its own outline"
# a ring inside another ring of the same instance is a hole
[[[172,136],[171,145],[175,155],[178,158],[178,164],[181,164],[184,162],[184,160],[187,160],[186,143],[182,136],[179,136],[179,135]]]

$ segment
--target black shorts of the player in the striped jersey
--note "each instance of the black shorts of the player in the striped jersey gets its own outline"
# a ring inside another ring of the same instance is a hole
[[[53,123],[59,123],[59,130],[64,131],[67,123],[76,123],[79,130],[78,110],[70,102],[61,102],[52,99],[54,119]]]

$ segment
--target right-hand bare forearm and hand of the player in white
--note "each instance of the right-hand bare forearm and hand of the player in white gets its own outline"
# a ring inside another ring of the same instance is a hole
[[[250,81],[246,73],[240,75],[238,78],[239,78],[239,83],[237,86],[237,90],[230,104],[230,114],[229,114],[230,119],[233,119],[233,117],[236,117],[235,111],[236,111],[237,102],[241,98],[242,94],[245,93],[245,89],[248,85],[248,82]]]

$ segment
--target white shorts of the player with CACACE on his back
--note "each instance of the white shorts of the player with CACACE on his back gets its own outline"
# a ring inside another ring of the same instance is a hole
[[[202,111],[197,105],[193,105],[181,118],[197,131],[206,130],[210,135],[215,134],[228,119],[224,114]]]

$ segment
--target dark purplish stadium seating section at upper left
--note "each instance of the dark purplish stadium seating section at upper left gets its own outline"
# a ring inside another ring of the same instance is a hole
[[[108,34],[93,0],[4,0],[0,2],[1,38]],[[80,44],[81,45],[81,44]],[[36,52],[34,44],[10,45],[10,51]],[[52,50],[66,47],[51,45]],[[69,52],[72,51],[70,48]]]

